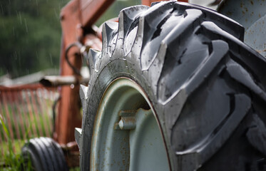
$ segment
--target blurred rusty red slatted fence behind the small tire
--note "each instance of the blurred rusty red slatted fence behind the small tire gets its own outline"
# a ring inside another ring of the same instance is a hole
[[[56,95],[56,88],[46,88],[40,83],[0,86],[0,117],[9,130],[9,134],[1,132],[0,142],[8,142],[9,139],[11,142],[26,140],[31,136],[50,137],[53,121],[48,116],[47,107],[52,105]],[[23,143],[21,141],[19,145]],[[0,150],[1,154],[4,150]],[[13,150],[16,152],[16,148]]]

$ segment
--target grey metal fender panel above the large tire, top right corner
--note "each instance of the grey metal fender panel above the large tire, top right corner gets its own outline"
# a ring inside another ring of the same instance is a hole
[[[242,24],[245,28],[244,42],[262,56],[266,56],[266,1],[224,0],[218,12]]]

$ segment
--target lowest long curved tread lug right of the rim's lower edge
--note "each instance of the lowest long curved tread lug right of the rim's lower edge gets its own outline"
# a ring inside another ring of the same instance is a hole
[[[235,130],[251,107],[251,101],[247,95],[235,95],[233,99],[235,110],[233,110],[232,113],[228,113],[224,120],[221,120],[218,127],[213,130],[213,133],[210,133],[207,138],[204,138],[203,142],[186,150],[175,152],[175,154],[178,155],[178,158],[182,160],[180,167],[189,166],[190,168],[187,168],[186,170],[200,168],[204,162],[222,147],[230,135],[232,135],[232,130]],[[218,133],[216,133],[216,131],[218,131]],[[198,158],[198,160],[194,161],[195,163],[190,159],[193,155]],[[200,163],[197,163],[198,161],[200,161]]]

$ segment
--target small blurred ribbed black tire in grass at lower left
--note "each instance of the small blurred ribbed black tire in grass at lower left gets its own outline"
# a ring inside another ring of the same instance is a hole
[[[63,151],[51,138],[33,138],[21,150],[24,169],[31,160],[31,167],[36,171],[68,170]]]

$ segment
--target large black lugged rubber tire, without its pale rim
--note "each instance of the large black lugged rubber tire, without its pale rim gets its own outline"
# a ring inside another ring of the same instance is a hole
[[[131,78],[155,109],[171,170],[265,170],[266,61],[226,16],[178,2],[133,6],[103,24],[103,50],[88,54],[81,170],[93,123],[116,78]]]

